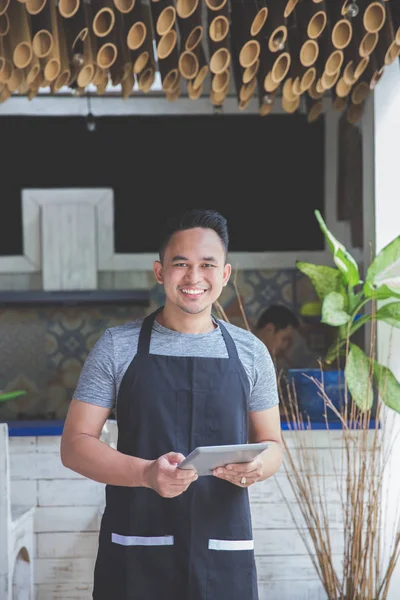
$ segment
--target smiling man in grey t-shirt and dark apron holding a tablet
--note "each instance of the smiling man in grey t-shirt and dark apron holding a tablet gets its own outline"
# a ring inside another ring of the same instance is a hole
[[[164,306],[108,329],[66,419],[63,464],[107,484],[95,600],[257,600],[248,488],[282,461],[276,376],[265,345],[215,319],[228,230],[211,210],[167,223],[154,263]],[[99,441],[115,407],[118,446]],[[270,441],[250,463],[197,477],[197,446]]]

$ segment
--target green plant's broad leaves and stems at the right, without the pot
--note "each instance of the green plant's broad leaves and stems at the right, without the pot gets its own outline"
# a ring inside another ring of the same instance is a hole
[[[310,280],[320,301],[321,322],[336,328],[336,339],[324,358],[327,365],[345,358],[345,376],[350,394],[361,410],[373,403],[371,379],[380,391],[385,386],[384,402],[400,412],[400,383],[373,354],[366,356],[351,336],[367,323],[385,321],[400,328],[400,236],[385,246],[369,266],[365,281],[357,262],[328,230],[318,210],[314,211],[333,255],[335,267],[297,261],[296,267]],[[376,301],[389,301],[376,309]],[[365,312],[371,303],[370,311]],[[305,305],[303,314],[315,306]]]

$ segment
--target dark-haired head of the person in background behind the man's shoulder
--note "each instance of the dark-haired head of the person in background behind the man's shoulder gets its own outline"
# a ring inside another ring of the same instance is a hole
[[[273,304],[258,317],[254,334],[266,345],[272,359],[287,358],[300,322],[286,306]]]

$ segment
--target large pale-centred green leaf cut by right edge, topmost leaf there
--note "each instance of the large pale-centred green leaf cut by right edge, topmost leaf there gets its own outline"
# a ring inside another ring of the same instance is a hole
[[[364,293],[368,298],[400,297],[400,235],[378,252],[365,281]]]

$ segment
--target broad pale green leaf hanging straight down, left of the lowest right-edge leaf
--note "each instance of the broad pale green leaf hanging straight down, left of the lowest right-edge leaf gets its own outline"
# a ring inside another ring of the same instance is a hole
[[[347,387],[358,408],[369,410],[373,402],[370,361],[355,344],[350,344],[344,373]]]

